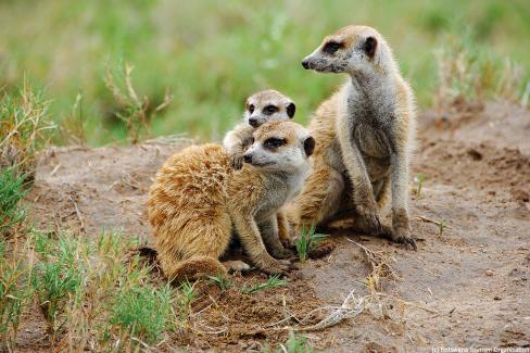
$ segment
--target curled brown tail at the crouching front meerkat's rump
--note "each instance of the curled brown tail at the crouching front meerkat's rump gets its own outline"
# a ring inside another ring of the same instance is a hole
[[[223,264],[214,257],[195,255],[177,263],[162,265],[167,278],[174,282],[181,280],[194,280],[206,276],[225,276],[227,270]]]

